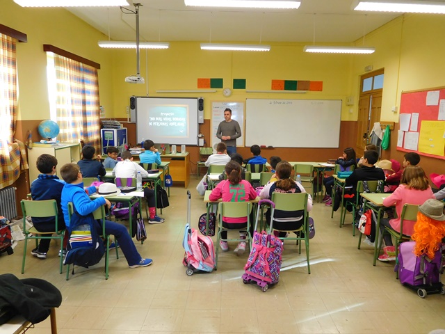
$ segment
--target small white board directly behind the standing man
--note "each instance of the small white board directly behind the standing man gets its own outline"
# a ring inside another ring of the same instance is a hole
[[[224,110],[232,110],[232,120],[236,120],[241,128],[241,137],[236,138],[236,146],[244,146],[244,102],[212,102],[211,104],[211,147],[220,143],[216,136],[218,125],[224,120]]]

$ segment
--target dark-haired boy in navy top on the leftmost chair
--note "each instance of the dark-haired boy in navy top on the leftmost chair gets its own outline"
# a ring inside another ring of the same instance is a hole
[[[51,154],[42,154],[37,158],[37,169],[41,174],[31,183],[31,197],[33,200],[56,200],[58,209],[58,230],[65,230],[65,219],[63,218],[62,208],[60,207],[60,196],[62,194],[65,182],[59,180],[56,175],[57,159]],[[54,217],[31,217],[35,228],[40,232],[51,232],[55,230],[56,218]],[[66,254],[68,233],[65,233],[63,239],[64,253]],[[31,254],[39,259],[46,259],[51,239],[40,239],[39,246],[31,250]],[[58,251],[60,256],[60,250]]]

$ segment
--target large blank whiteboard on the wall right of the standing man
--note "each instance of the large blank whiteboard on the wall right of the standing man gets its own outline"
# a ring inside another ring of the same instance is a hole
[[[245,145],[338,148],[341,100],[247,99]]]

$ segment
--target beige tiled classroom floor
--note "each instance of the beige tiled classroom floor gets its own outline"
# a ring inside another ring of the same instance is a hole
[[[205,207],[193,180],[193,226]],[[111,255],[110,278],[104,279],[103,262],[88,270],[77,269],[65,280],[58,273],[57,248],[47,260],[31,254],[20,273],[22,244],[14,255],[1,255],[0,271],[19,278],[43,278],[60,289],[58,333],[428,333],[445,328],[445,297],[420,299],[401,286],[394,263],[372,265],[372,250],[362,244],[351,225],[339,228],[339,212],[316,203],[311,216],[316,236],[310,241],[311,271],[305,255],[285,244],[280,283],[266,293],[241,280],[248,254],[220,253],[218,271],[186,276],[181,264],[186,218],[186,190],[174,187],[165,223],[147,225],[149,239],[136,247],[154,264],[129,269]],[[347,221],[351,221],[348,216]],[[230,244],[232,250],[236,245]],[[31,250],[31,247],[29,248]],[[29,251],[28,251],[29,253]],[[49,321],[28,333],[49,333]]]

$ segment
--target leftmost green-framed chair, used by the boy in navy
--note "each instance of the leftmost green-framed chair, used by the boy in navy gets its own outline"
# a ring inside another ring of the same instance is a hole
[[[25,234],[25,244],[23,248],[22,273],[25,271],[26,260],[26,246],[28,239],[35,239],[35,247],[38,247],[39,239],[59,239],[60,240],[60,255],[63,253],[63,237],[65,236],[65,229],[58,228],[58,209],[56,200],[22,200],[20,202],[23,213],[23,232]],[[56,223],[54,231],[40,232],[34,226],[32,228],[26,227],[26,216],[31,217],[55,217]],[[56,235],[53,235],[56,234]],[[63,271],[63,256],[60,256],[59,272]]]

